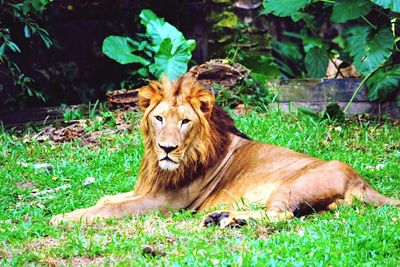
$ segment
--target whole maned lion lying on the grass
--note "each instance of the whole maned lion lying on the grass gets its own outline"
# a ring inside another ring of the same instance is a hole
[[[159,210],[226,210],[204,225],[243,225],[249,219],[288,220],[350,205],[399,205],[375,191],[352,167],[270,144],[240,132],[214,95],[195,79],[152,81],[139,89],[144,155],[132,192],[105,196],[93,207],[52,218],[92,223]],[[243,199],[260,210],[237,211]]]

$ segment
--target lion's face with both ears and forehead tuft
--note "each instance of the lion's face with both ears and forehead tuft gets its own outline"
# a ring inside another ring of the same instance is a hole
[[[202,136],[214,101],[211,92],[192,79],[181,79],[153,82],[140,89],[139,98],[146,149],[152,150],[161,169],[175,171],[205,161],[207,145]]]

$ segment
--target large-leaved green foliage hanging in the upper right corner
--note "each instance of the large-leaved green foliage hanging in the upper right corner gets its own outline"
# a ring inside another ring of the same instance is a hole
[[[397,0],[336,0],[324,1],[264,1],[264,14],[291,17],[300,33],[285,33],[286,36],[301,39],[303,47],[296,51],[296,58],[304,57],[304,68],[309,77],[323,77],[329,57],[338,57],[346,63],[353,63],[359,73],[367,80],[369,98],[384,99],[398,90],[400,40],[398,13],[400,1]],[[314,8],[315,7],[315,8]],[[385,9],[383,9],[385,8]],[[331,23],[347,23],[336,37],[324,38],[320,33],[322,26]],[[276,53],[287,57],[287,49],[279,44]],[[293,45],[292,45],[293,46]],[[297,54],[300,53],[300,56]],[[305,54],[305,56],[303,56]],[[295,68],[277,64],[284,75],[297,77],[304,73],[302,60]],[[293,57],[292,57],[293,60]],[[337,66],[338,67],[338,66]]]

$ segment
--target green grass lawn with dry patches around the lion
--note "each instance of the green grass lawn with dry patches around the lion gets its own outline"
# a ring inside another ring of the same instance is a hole
[[[140,115],[128,117],[134,126]],[[399,124],[355,119],[339,124],[276,111],[234,118],[254,140],[344,161],[379,192],[400,198]],[[106,127],[96,120],[86,131]],[[203,228],[202,215],[191,211],[126,217],[94,226],[49,226],[53,215],[91,206],[106,194],[132,190],[143,146],[136,129],[108,131],[92,146],[81,140],[39,142],[31,138],[34,134],[0,131],[0,265],[400,265],[398,207],[358,204],[241,229]],[[35,168],[36,163],[52,168]],[[88,177],[94,182],[88,183]]]

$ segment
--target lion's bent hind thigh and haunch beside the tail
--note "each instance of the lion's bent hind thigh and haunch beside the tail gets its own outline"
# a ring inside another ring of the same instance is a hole
[[[350,166],[330,161],[302,173],[271,194],[267,207],[294,214],[349,206],[354,199],[365,201],[365,182]]]

